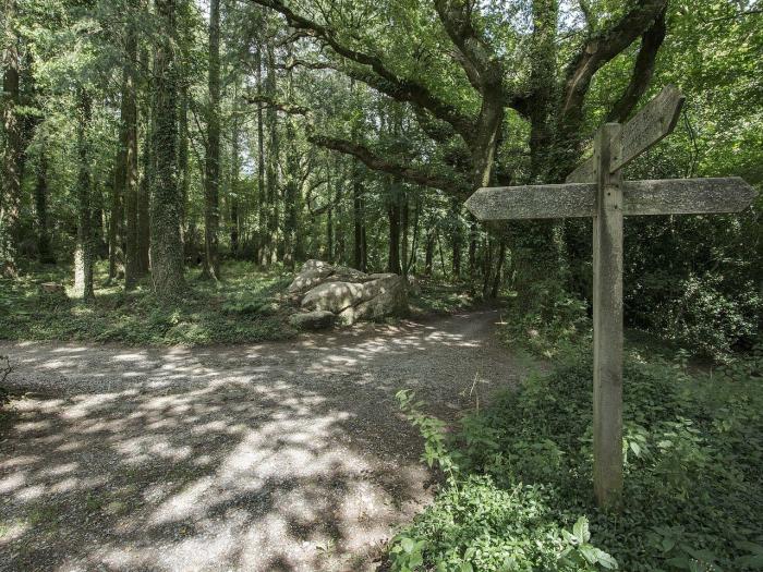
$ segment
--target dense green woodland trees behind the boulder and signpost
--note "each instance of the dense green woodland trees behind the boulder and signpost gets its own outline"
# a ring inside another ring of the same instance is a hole
[[[485,228],[462,203],[564,179],[666,83],[677,133],[629,177],[763,179],[754,1],[3,2],[0,265],[73,265],[86,302],[99,260],[172,300],[187,267],[312,257],[514,292],[525,326],[584,319],[589,221]],[[751,346],[761,228],[760,200],[629,219],[630,326]]]

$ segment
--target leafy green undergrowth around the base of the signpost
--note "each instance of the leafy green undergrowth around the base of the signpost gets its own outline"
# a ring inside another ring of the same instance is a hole
[[[690,376],[682,364],[630,355],[625,494],[621,511],[606,514],[592,498],[586,355],[561,351],[550,373],[531,375],[451,431],[400,393],[427,462],[448,478],[392,540],[395,570],[416,570],[405,539],[421,551],[417,570],[761,570],[760,362]]]

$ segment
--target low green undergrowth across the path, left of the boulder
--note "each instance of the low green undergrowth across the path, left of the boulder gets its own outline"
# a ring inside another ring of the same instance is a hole
[[[106,285],[106,266],[96,268],[96,300],[84,305],[72,297],[72,273],[48,268],[4,281],[0,288],[0,339],[119,341],[134,345],[213,344],[280,340],[296,332],[281,296],[292,275],[263,272],[246,263],[223,266],[225,280],[204,281],[186,273],[181,303],[159,304],[149,283],[125,293],[121,282]],[[40,290],[58,282],[65,294]]]

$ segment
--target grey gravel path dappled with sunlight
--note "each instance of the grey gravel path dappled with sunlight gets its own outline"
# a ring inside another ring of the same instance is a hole
[[[2,343],[0,570],[374,570],[431,498],[395,393],[514,382],[495,312],[205,349]]]

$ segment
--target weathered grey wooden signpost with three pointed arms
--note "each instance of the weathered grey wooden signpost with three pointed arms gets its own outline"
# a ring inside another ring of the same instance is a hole
[[[738,212],[755,194],[736,177],[622,181],[622,168],[674,130],[682,105],[667,86],[625,125],[604,124],[566,184],[480,188],[467,200],[479,220],[593,218],[593,482],[605,509],[622,491],[622,217]]]

